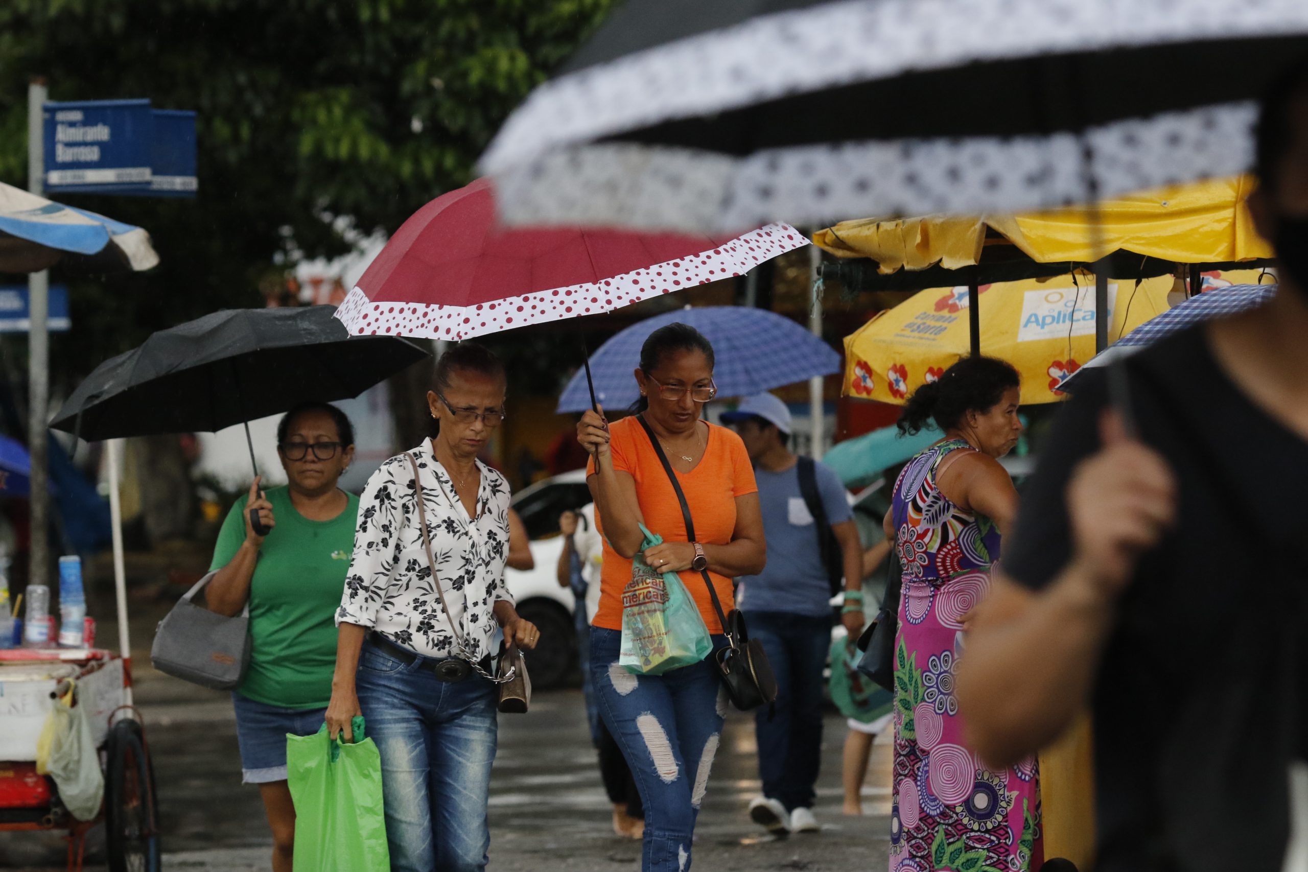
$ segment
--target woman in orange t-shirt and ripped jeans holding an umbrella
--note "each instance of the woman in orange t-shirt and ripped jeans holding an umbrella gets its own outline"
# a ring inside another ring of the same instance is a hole
[[[654,569],[678,573],[691,591],[714,647],[726,643],[722,622],[700,574],[704,566],[725,612],[731,579],[763,570],[766,549],[759,489],[744,443],[731,430],[702,421],[713,399],[713,346],[685,324],[650,333],[636,370],[641,414],[676,471],[695,522],[688,541],[681,506],[637,417],[607,424],[587,412],[577,438],[591,452],[587,482],[596,527],[604,533],[599,611],[590,635],[590,671],[600,715],[623,748],[645,803],[642,872],[691,868],[695,818],[722,733],[726,694],[710,659],[659,676],[617,664],[623,588],[641,550],[644,523],[663,539],[644,552]]]

